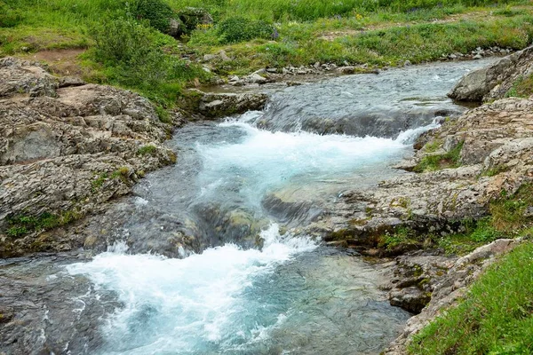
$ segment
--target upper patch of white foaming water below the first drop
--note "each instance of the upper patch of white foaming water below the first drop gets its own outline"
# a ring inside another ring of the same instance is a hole
[[[434,127],[408,130],[395,139],[319,135],[303,130],[272,132],[249,123],[260,114],[219,124],[221,129],[241,131],[243,136],[237,142],[196,145],[203,162],[199,174],[203,199],[217,199],[227,195],[221,190],[231,190],[257,209],[266,192],[288,183],[320,181],[376,165],[386,167],[410,152],[412,140],[421,131]]]

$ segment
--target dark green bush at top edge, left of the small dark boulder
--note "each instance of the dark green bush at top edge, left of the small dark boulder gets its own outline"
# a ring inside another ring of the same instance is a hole
[[[135,0],[131,4],[131,14],[137,20],[147,20],[151,27],[167,33],[174,12],[162,0]]]

